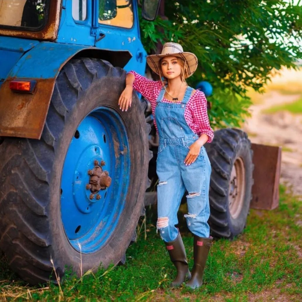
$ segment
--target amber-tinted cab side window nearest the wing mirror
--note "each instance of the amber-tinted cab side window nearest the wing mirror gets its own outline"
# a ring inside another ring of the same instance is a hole
[[[132,0],[99,0],[98,22],[112,26],[133,26]]]

